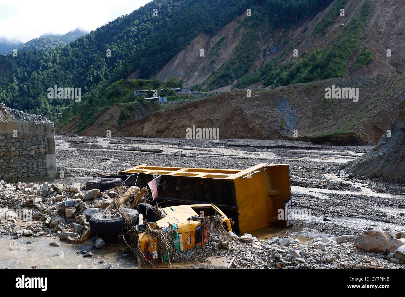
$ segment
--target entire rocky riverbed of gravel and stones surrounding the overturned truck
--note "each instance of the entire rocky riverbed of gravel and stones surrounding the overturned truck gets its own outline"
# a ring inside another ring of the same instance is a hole
[[[290,164],[293,207],[300,210],[295,213],[294,227],[252,230],[253,235],[240,234],[236,240],[214,235],[202,249],[185,251],[178,261],[190,263],[190,268],[212,268],[216,265],[214,257],[226,259],[215,266],[223,268],[404,268],[402,251],[396,256],[395,251],[401,248],[401,232],[405,231],[405,187],[346,172],[345,166],[342,171],[343,164],[371,147],[320,146],[296,141],[236,139],[213,143],[77,136],[57,136],[56,145],[58,165],[66,168],[66,176],[70,172],[75,177],[49,181],[48,185],[19,184],[17,191],[14,185],[2,184],[0,208],[31,207],[33,215],[37,213],[34,223],[2,220],[0,230],[4,231],[4,238],[48,236],[58,242],[61,235],[63,241],[69,241],[83,234],[88,227],[87,215],[102,209],[103,201],[112,199],[109,193],[101,192],[83,199],[90,194],[83,191],[80,183],[92,178],[93,171],[111,174],[139,164],[244,169],[272,162]],[[43,193],[44,187],[48,193]],[[364,232],[373,234],[362,235]],[[339,236],[348,237],[341,241]],[[379,249],[360,246],[355,241],[362,244],[364,240],[357,236],[369,236],[368,241],[375,236]],[[94,242],[91,246],[89,251],[93,254],[102,251],[94,250]],[[78,249],[79,254],[82,250]]]

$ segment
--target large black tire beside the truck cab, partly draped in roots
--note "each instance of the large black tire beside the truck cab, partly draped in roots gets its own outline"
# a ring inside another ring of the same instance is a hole
[[[139,219],[139,213],[136,209],[121,209],[132,216],[132,225],[136,225]],[[120,215],[116,218],[105,218],[104,214],[108,211],[100,211],[90,217],[90,229],[93,233],[105,235],[117,235],[124,229],[125,221]]]

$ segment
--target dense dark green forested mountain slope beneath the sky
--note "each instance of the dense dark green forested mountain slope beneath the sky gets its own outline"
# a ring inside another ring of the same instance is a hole
[[[50,106],[70,103],[66,99],[48,99],[48,87],[80,87],[84,94],[122,78],[151,78],[196,36],[214,36],[247,9],[258,25],[270,22],[290,26],[315,16],[331,2],[155,0],[64,47],[23,52],[17,59],[1,56],[0,100],[21,110],[47,113]],[[153,9],[157,9],[157,15]],[[250,38],[246,36],[243,42],[249,43]],[[111,50],[111,57],[107,50]],[[235,51],[243,52],[243,44]],[[240,68],[237,73],[242,75],[251,66],[250,59],[250,54],[241,61],[233,59],[232,71]],[[218,80],[228,81],[222,76]]]

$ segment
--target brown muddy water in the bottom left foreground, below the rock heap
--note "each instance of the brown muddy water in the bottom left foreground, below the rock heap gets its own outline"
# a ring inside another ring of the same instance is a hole
[[[58,237],[0,238],[0,269],[32,269],[32,266],[38,269],[136,269],[133,259],[121,259],[120,247],[115,244],[93,249],[93,257],[84,258],[77,252],[91,249],[91,244],[60,242],[58,247],[49,246],[52,241],[60,242]]]

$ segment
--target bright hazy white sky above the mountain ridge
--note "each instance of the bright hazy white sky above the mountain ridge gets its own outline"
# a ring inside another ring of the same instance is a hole
[[[0,36],[27,42],[44,33],[91,31],[151,0],[0,0]]]

